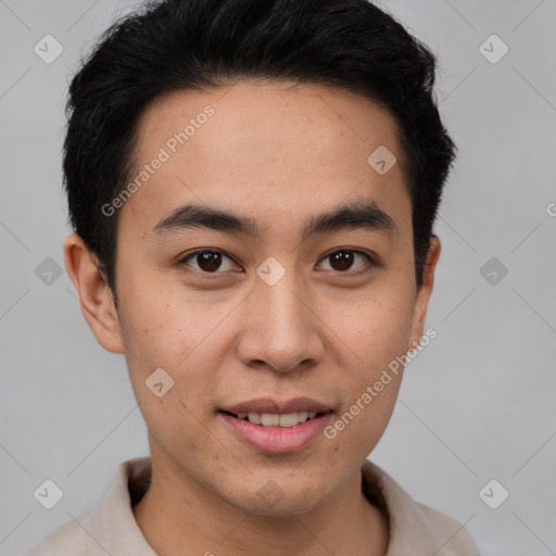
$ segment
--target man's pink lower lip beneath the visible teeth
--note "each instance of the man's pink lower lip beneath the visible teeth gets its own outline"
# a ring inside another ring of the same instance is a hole
[[[307,446],[323,432],[332,414],[318,415],[308,421],[295,425],[295,427],[263,427],[223,412],[219,415],[233,432],[251,447],[268,454],[283,454]]]

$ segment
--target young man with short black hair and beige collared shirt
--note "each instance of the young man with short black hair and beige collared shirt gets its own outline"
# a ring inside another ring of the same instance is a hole
[[[65,262],[151,455],[38,555],[476,555],[366,460],[425,332],[454,159],[365,0],[166,0],[70,90]]]

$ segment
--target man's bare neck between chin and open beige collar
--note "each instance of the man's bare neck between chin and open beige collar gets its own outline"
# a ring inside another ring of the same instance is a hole
[[[388,520],[364,496],[361,471],[321,506],[296,516],[249,514],[191,477],[152,459],[152,481],[132,507],[146,540],[161,556],[384,556]],[[264,549],[262,549],[264,547]]]

